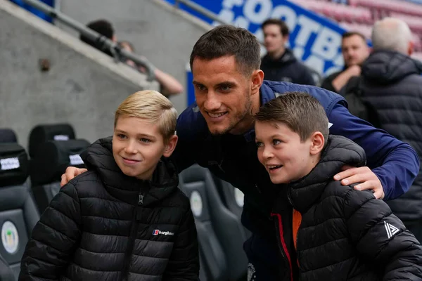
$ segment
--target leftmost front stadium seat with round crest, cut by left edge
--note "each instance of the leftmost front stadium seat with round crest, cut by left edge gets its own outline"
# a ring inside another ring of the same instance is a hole
[[[32,198],[28,157],[17,143],[0,143],[0,255],[17,278],[25,245],[39,212]]]

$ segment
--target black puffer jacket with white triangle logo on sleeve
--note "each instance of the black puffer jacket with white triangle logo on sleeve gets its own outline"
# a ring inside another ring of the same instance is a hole
[[[299,280],[422,280],[421,244],[388,205],[332,179],[343,165],[364,163],[357,144],[330,136],[311,173],[288,185],[288,198],[302,214],[294,237]],[[297,268],[294,255],[289,259]]]

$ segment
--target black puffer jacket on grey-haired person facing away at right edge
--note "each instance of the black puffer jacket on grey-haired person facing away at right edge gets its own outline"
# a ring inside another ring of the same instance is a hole
[[[422,157],[422,63],[394,51],[371,53],[362,66],[362,95],[379,125]],[[422,220],[422,170],[402,197],[388,202],[403,221]]]

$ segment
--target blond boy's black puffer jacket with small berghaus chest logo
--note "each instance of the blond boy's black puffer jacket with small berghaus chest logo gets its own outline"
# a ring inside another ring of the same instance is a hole
[[[195,223],[174,166],[163,159],[152,181],[125,176],[111,138],[81,156],[90,171],[42,214],[19,280],[198,280]]]

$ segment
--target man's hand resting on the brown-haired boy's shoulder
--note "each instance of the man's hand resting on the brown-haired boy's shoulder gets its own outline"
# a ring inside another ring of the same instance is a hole
[[[341,181],[342,185],[351,185],[358,183],[354,186],[355,190],[372,190],[376,199],[384,198],[384,189],[378,176],[369,169],[367,166],[355,168],[353,166],[345,165],[343,171],[334,176],[335,181]]]

